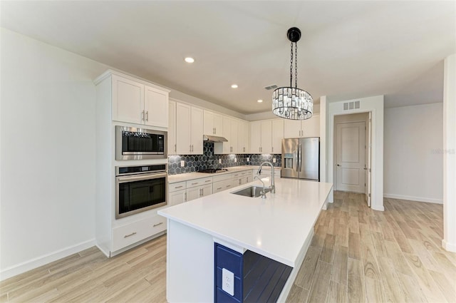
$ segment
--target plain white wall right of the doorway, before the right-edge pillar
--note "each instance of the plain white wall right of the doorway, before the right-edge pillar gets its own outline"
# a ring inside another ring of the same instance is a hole
[[[385,197],[442,203],[442,105],[385,108]]]

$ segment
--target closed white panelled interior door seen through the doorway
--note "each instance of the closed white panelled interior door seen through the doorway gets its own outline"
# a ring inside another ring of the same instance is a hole
[[[365,193],[365,122],[336,124],[336,189]]]

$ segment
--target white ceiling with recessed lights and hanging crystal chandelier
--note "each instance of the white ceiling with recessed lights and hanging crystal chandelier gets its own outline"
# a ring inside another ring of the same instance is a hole
[[[289,86],[292,26],[317,101],[441,102],[456,53],[456,1],[1,1],[1,26],[244,114]]]

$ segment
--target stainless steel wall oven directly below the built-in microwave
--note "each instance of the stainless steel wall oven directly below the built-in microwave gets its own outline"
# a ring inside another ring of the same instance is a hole
[[[116,166],[115,218],[167,205],[167,164]]]

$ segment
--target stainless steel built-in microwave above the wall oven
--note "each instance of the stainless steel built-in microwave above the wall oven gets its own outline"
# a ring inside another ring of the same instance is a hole
[[[167,132],[115,126],[115,160],[167,158]]]

